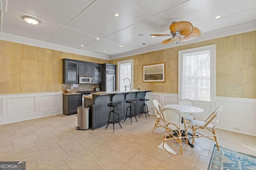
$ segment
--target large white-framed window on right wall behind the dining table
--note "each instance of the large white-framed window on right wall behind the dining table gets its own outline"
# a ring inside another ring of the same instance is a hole
[[[179,51],[179,99],[214,102],[215,45]]]

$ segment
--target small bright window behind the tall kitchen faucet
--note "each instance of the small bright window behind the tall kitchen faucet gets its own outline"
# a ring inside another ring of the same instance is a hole
[[[128,79],[129,78],[130,82]],[[125,79],[125,82],[124,82]],[[133,60],[118,62],[118,90],[124,91],[133,89]],[[130,87],[127,87],[130,86]]]

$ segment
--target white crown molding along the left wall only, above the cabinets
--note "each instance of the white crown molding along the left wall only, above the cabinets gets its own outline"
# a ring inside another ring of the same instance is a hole
[[[109,60],[108,55],[92,53],[89,51],[83,51],[80,49],[74,49],[74,48],[65,47],[62,45],[56,45],[56,44],[47,43],[44,41],[38,41],[35,39],[20,37],[20,36],[8,34],[8,33],[0,32],[0,40],[11,41],[14,43],[21,43],[21,44],[32,45],[32,46],[36,46],[36,47],[42,47],[42,48],[46,48],[46,49],[52,49],[52,50],[63,51],[63,52],[67,52],[67,53],[73,53],[73,54],[84,55],[84,56],[88,56],[88,57],[94,57],[94,58],[98,58],[98,59]]]

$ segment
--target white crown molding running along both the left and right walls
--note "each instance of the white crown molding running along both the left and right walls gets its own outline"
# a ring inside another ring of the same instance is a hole
[[[21,44],[26,44],[26,45],[32,45],[32,46],[36,46],[36,47],[42,47],[42,48],[46,48],[46,49],[63,51],[63,52],[73,53],[73,54],[78,54],[78,55],[84,55],[84,56],[94,57],[94,58],[98,58],[98,59],[113,60],[113,59],[119,59],[119,58],[128,57],[128,56],[132,56],[132,55],[138,55],[138,54],[143,54],[143,53],[149,53],[152,51],[158,51],[158,50],[162,50],[162,49],[178,47],[181,45],[197,43],[197,42],[206,41],[209,39],[216,39],[216,38],[226,37],[226,36],[235,35],[235,34],[239,34],[239,33],[246,33],[246,32],[255,31],[255,30],[256,30],[256,21],[252,21],[252,22],[248,22],[248,23],[244,23],[244,24],[240,24],[240,25],[236,25],[236,26],[232,26],[232,27],[227,27],[224,29],[218,29],[215,31],[202,33],[200,35],[200,37],[198,37],[192,41],[186,42],[186,43],[181,43],[181,42],[178,44],[170,43],[168,45],[158,44],[158,45],[153,45],[150,47],[145,47],[142,49],[128,51],[125,53],[120,53],[120,54],[110,55],[110,56],[92,53],[90,51],[83,51],[80,49],[74,49],[74,48],[65,47],[62,45],[56,45],[56,44],[47,43],[44,41],[38,41],[38,40],[20,37],[17,35],[12,35],[12,34],[2,33],[2,32],[0,32],[0,40],[11,41],[11,42],[21,43]]]

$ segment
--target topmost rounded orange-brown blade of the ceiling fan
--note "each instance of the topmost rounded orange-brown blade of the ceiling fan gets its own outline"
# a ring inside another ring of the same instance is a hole
[[[189,35],[193,31],[193,25],[188,21],[175,22],[172,25],[170,25],[170,30],[173,33],[180,31],[181,35]]]

